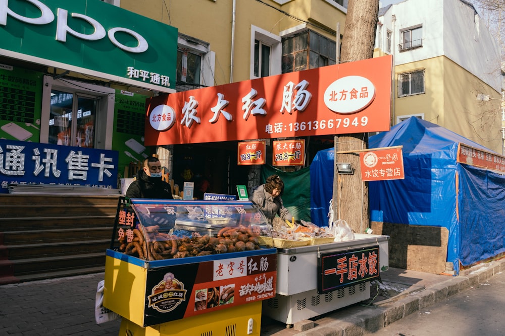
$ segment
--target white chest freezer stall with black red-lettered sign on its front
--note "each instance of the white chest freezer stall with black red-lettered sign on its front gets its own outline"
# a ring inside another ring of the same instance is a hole
[[[318,240],[323,239],[277,249],[276,296],[263,302],[263,312],[272,319],[290,326],[367,300],[370,282],[388,270],[389,236],[354,234],[347,241]]]

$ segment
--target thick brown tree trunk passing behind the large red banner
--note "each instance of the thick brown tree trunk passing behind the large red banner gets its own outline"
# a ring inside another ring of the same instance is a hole
[[[340,62],[372,58],[379,0],[349,1],[345,18]],[[368,133],[338,136],[337,152],[368,148]],[[335,219],[343,219],[357,233],[370,226],[368,183],[361,179],[360,153],[335,154],[336,162],[350,162],[354,175],[339,175],[335,169],[336,188],[333,195]]]

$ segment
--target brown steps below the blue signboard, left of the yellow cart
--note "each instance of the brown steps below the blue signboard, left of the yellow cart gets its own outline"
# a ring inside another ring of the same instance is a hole
[[[104,272],[119,196],[0,194],[0,285]]]

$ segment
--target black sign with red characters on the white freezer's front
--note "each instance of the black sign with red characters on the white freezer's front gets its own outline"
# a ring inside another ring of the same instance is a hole
[[[321,253],[318,257],[319,294],[379,278],[379,246]]]

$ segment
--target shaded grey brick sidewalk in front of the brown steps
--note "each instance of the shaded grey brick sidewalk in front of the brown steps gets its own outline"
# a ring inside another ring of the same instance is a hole
[[[95,323],[98,282],[104,273],[0,286],[0,334],[9,336],[118,336],[121,320]]]

